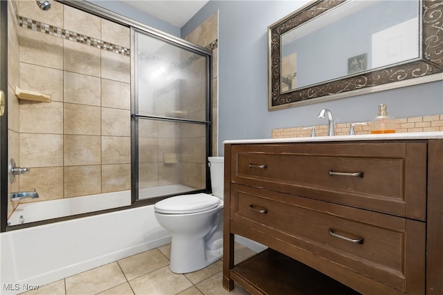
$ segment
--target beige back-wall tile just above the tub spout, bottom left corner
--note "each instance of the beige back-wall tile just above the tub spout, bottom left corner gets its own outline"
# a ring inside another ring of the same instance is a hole
[[[20,175],[20,190],[39,193],[39,198],[26,199],[44,201],[63,198],[63,167],[33,168]]]

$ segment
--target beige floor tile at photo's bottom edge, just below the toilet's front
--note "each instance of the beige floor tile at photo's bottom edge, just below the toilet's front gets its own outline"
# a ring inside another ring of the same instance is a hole
[[[171,295],[192,287],[190,280],[183,274],[174,274],[169,267],[157,269],[134,280],[130,280],[136,295],[156,294]]]

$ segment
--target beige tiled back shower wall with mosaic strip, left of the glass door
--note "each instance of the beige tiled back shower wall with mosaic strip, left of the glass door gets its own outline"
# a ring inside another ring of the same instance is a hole
[[[19,79],[9,91],[52,101],[10,97],[14,157],[30,168],[11,189],[36,189],[37,201],[130,189],[129,28],[55,1],[48,11],[19,1],[17,13]]]

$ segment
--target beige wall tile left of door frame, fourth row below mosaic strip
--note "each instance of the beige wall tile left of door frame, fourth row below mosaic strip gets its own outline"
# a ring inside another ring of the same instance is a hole
[[[131,137],[102,136],[102,164],[131,163]]]

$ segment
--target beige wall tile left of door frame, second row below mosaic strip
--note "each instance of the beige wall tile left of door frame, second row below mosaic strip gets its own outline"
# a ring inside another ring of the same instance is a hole
[[[131,109],[131,84],[102,79],[102,106]]]

